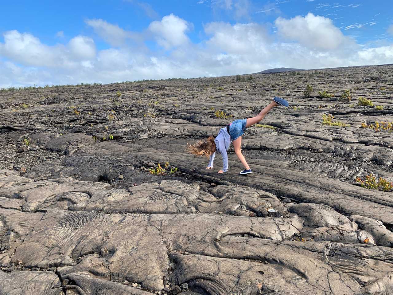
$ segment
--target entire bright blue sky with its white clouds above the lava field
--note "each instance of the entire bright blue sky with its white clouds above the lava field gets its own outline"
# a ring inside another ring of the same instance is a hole
[[[0,87],[393,63],[393,2],[2,3]]]

